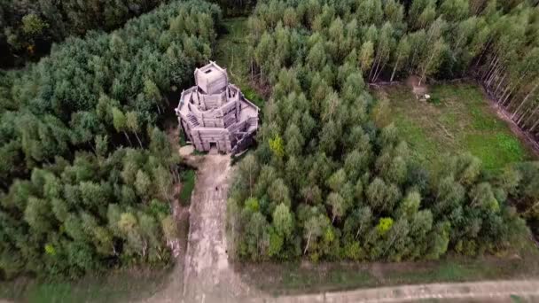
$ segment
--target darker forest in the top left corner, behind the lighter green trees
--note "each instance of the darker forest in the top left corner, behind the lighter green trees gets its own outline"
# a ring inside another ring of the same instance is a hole
[[[90,29],[110,30],[164,0],[0,1],[0,66],[17,66],[48,53],[51,43]]]

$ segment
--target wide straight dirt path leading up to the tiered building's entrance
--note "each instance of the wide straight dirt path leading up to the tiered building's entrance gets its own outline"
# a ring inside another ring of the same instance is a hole
[[[192,159],[198,162],[198,170],[191,198],[184,301],[236,302],[254,293],[242,283],[228,259],[225,217],[230,156],[208,154],[197,158]]]

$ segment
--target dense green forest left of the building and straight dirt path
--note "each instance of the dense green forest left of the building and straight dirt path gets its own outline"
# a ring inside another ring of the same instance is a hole
[[[168,262],[179,159],[156,126],[220,19],[215,4],[163,4],[0,74],[0,276]]]

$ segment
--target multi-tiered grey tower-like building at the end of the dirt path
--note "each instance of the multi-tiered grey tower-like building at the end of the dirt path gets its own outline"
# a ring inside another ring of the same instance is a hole
[[[210,61],[195,69],[196,86],[184,90],[176,115],[198,151],[238,153],[252,143],[259,108],[229,83],[226,69]]]

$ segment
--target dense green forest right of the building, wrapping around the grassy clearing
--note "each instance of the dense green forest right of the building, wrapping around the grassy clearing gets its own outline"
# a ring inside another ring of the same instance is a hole
[[[366,82],[497,68],[519,86],[496,86],[531,105],[520,95],[538,81],[538,26],[531,1],[260,1],[251,76],[271,98],[230,191],[238,256],[398,261],[517,247],[528,233],[519,214],[537,218],[539,165],[492,174],[470,154],[440,155],[428,171]]]

